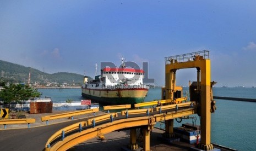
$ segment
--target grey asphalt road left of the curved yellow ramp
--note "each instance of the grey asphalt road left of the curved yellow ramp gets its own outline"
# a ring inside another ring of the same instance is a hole
[[[79,121],[84,119],[29,129],[1,130],[0,150],[43,150],[53,133]]]

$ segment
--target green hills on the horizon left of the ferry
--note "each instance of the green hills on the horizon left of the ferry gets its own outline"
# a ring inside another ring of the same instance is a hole
[[[0,79],[11,83],[28,83],[30,72],[30,82],[46,85],[47,83],[67,83],[69,85],[81,85],[84,75],[68,72],[45,73],[38,69],[21,66],[15,63],[0,60]],[[91,79],[89,77],[89,79]]]

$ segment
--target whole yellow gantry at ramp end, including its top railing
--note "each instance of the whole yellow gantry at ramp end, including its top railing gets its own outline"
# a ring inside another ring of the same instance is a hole
[[[209,51],[165,57],[165,88],[162,88],[162,99],[179,103],[182,91],[176,86],[176,72],[178,69],[195,68],[197,82],[189,84],[190,101],[197,106],[197,113],[201,117],[200,149],[211,150],[211,113],[215,111],[215,101],[212,95],[211,66]],[[167,136],[173,136],[173,119],[166,121]]]

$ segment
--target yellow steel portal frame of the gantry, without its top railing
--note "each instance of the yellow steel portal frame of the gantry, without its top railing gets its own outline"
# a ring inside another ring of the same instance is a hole
[[[166,64],[166,99],[173,99],[175,88],[175,76],[177,69],[200,69],[200,93],[201,93],[201,145],[212,146],[211,143],[211,67],[210,60],[194,60],[187,62],[171,62]],[[199,77],[198,77],[199,78]]]

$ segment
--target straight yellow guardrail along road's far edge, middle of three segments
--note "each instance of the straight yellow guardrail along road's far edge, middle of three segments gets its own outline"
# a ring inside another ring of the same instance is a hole
[[[46,124],[48,125],[48,120],[67,118],[67,117],[72,117],[72,120],[73,120],[73,117],[76,115],[95,113],[95,112],[99,112],[99,108],[85,109],[82,111],[67,112],[67,113],[61,113],[61,114],[55,114],[55,115],[47,115],[45,117],[41,117],[41,121],[46,121]]]

